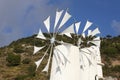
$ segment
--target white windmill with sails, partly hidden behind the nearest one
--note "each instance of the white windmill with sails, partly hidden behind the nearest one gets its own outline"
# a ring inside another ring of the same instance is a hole
[[[101,63],[101,55],[100,55],[100,37],[96,35],[100,34],[100,31],[98,28],[92,30],[88,30],[88,28],[93,23],[90,21],[86,22],[86,25],[83,29],[82,36],[78,37],[78,47],[80,49],[80,80],[99,80],[100,78],[103,78],[103,72],[102,72],[102,66],[103,63]],[[79,34],[79,27],[80,22],[75,23],[76,26],[76,33]],[[88,31],[87,36],[85,35],[85,32]],[[85,47],[81,47],[82,43],[84,43],[85,38],[92,38],[91,40],[86,41]],[[90,45],[92,43],[92,45]]]

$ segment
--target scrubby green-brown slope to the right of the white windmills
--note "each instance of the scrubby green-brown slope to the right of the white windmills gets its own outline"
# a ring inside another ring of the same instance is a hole
[[[120,36],[107,35],[101,43],[104,76],[120,78]]]

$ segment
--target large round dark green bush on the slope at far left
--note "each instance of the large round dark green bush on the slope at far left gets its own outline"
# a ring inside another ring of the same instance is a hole
[[[9,66],[17,66],[21,62],[21,56],[9,53],[8,56],[6,57],[6,61],[8,62]]]

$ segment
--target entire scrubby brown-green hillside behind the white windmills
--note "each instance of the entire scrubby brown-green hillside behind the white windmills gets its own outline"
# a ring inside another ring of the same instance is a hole
[[[42,57],[45,50],[33,55],[33,46],[44,45],[44,41],[34,38],[35,35],[13,41],[10,45],[0,48],[0,80],[48,80],[49,74],[41,72],[48,56],[36,71],[34,62]],[[61,36],[57,36],[60,39]],[[75,43],[71,39],[65,41]],[[101,38],[101,57],[105,64],[104,76],[112,76],[120,79],[120,36],[108,35]]]

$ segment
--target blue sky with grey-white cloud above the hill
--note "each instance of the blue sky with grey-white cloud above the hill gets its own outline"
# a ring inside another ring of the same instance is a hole
[[[83,25],[93,22],[101,36],[120,35],[120,0],[0,0],[0,47],[44,30],[48,16],[67,8]]]

